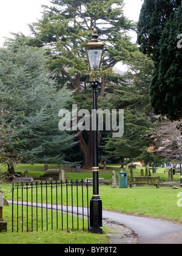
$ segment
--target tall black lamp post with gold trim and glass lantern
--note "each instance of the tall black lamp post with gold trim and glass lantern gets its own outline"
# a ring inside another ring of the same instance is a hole
[[[90,232],[103,233],[103,208],[99,196],[98,180],[98,125],[97,125],[97,88],[95,70],[100,71],[103,57],[104,43],[98,42],[96,29],[93,30],[91,43],[86,44],[86,54],[89,63],[90,77],[92,77],[93,111],[92,111],[92,132],[93,132],[93,196],[90,200]]]

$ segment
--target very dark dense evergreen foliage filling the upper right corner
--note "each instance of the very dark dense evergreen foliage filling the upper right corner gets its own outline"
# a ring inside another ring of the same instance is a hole
[[[155,63],[150,101],[156,114],[172,120],[182,118],[181,0],[145,0],[138,22],[141,51]]]

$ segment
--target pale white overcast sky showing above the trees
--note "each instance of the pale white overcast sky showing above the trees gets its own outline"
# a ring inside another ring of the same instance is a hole
[[[138,21],[141,0],[125,0],[125,15],[130,20]],[[10,32],[22,32],[29,35],[27,24],[31,24],[41,18],[41,5],[50,5],[50,0],[1,0],[0,2],[0,47],[5,41],[4,37],[12,37]]]

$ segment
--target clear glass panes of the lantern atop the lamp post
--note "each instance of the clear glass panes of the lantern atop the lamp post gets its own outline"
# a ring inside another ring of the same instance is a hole
[[[99,69],[103,55],[103,46],[89,46],[87,54],[90,63],[90,69]]]

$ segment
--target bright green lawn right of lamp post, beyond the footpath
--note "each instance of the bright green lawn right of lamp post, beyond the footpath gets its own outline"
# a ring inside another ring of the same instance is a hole
[[[136,216],[163,218],[182,223],[181,207],[178,207],[178,193],[171,187],[112,188],[100,186],[99,194],[103,208]],[[182,196],[182,194],[181,194]]]

